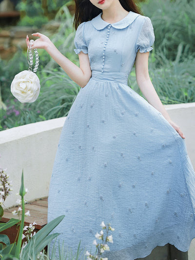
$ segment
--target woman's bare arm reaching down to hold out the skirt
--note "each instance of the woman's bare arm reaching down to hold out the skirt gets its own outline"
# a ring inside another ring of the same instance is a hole
[[[148,102],[153,105],[163,116],[164,118],[176,129],[179,135],[182,138],[185,138],[180,127],[174,123],[166,109],[164,108],[162,102],[160,101],[156,90],[153,86],[153,83],[150,80],[149,72],[148,72],[148,57],[149,52],[140,53],[137,52],[136,57],[136,80],[137,84],[143,93],[144,97],[148,100]]]

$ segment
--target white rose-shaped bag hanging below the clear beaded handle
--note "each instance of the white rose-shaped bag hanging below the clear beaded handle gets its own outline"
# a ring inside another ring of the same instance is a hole
[[[21,103],[34,102],[40,92],[38,76],[33,71],[21,71],[12,80],[11,92]]]

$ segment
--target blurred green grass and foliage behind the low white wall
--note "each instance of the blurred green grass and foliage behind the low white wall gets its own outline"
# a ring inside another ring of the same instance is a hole
[[[149,73],[163,104],[195,102],[195,1],[146,0],[139,1],[145,16],[151,18],[155,31],[155,44],[149,56]],[[22,0],[17,4],[20,26],[41,26],[50,20],[60,22],[59,30],[50,37],[59,51],[79,66],[73,49],[74,1]],[[10,85],[16,74],[27,69],[26,50],[19,49],[9,60],[0,60],[0,130],[53,118],[63,117],[74,102],[80,87],[62,68],[39,49],[41,90],[34,103],[20,103],[11,92]],[[18,66],[16,66],[16,63]],[[144,98],[137,86],[135,67],[128,85]],[[1,102],[0,102],[1,103]]]

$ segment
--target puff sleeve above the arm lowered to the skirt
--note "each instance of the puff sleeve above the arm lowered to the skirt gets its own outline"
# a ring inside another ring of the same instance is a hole
[[[136,52],[149,52],[153,50],[153,43],[155,42],[155,34],[152,22],[149,17],[145,17],[141,31],[136,42]]]

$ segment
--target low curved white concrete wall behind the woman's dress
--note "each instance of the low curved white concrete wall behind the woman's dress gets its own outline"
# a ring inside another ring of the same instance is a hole
[[[189,157],[195,168],[195,102],[164,105],[171,119],[186,137]],[[48,196],[55,154],[66,117],[47,120],[0,132],[0,166],[12,180],[12,194],[5,200],[5,208],[20,199],[22,168],[28,201]]]

